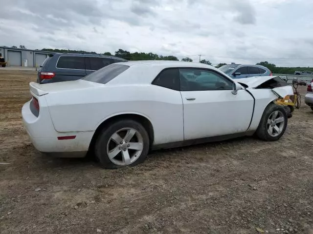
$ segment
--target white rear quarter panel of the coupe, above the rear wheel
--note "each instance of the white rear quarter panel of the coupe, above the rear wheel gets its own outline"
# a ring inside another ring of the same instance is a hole
[[[45,95],[58,132],[95,131],[106,119],[138,114],[150,120],[155,144],[183,140],[179,91],[155,85],[106,86]]]

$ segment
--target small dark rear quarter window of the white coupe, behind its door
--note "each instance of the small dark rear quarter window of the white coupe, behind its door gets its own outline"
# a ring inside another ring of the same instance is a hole
[[[178,77],[178,69],[165,69],[161,71],[152,84],[161,86],[168,89],[179,90],[179,77]]]

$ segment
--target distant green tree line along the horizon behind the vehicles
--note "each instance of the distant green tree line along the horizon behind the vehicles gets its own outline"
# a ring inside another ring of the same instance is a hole
[[[17,49],[17,46],[11,46],[11,48]],[[19,48],[26,49],[24,45],[20,45]],[[50,51],[55,53],[86,53],[86,54],[98,54],[94,51],[84,51],[84,50],[66,50],[66,49],[48,49],[44,48],[41,49],[42,51]],[[126,59],[126,60],[172,60],[172,61],[179,61],[179,59],[176,56],[162,56],[154,53],[144,53],[144,52],[134,52],[131,53],[127,50],[118,49],[114,52],[114,54],[111,54],[110,52],[101,53],[101,55],[107,55],[107,56],[115,56],[118,58]],[[193,60],[186,57],[182,58],[181,61],[185,62],[192,62]],[[209,60],[202,59],[200,61],[201,63],[212,65],[212,63]],[[226,63],[219,63],[215,67],[219,68],[226,65]],[[295,71],[313,71],[313,68],[309,67],[276,67],[275,64],[269,63],[268,61],[259,62],[256,65],[262,65],[267,67],[272,73],[275,74],[294,74]]]

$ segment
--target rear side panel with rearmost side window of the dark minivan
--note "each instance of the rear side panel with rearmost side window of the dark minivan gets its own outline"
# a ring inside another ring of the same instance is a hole
[[[54,81],[76,80],[85,76],[85,58],[83,56],[62,55],[59,57]]]

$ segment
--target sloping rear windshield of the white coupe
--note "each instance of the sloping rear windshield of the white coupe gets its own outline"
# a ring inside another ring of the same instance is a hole
[[[89,74],[87,77],[82,79],[95,83],[106,84],[113,78],[125,72],[128,68],[129,66],[126,65],[111,64]]]

